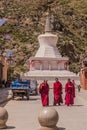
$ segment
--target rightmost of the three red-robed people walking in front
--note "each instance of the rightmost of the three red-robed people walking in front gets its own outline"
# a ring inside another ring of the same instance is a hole
[[[75,86],[70,79],[68,79],[68,82],[65,85],[65,93],[65,104],[67,106],[73,105],[75,97]]]

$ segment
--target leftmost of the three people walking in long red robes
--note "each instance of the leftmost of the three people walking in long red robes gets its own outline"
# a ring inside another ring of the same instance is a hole
[[[49,85],[47,80],[44,80],[39,86],[39,93],[41,94],[41,101],[43,106],[49,105]]]

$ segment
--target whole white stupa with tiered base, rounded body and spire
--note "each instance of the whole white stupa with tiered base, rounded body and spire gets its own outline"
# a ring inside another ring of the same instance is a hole
[[[29,72],[24,73],[22,77],[33,78],[36,80],[54,80],[55,77],[60,79],[72,78],[78,76],[69,71],[68,57],[62,57],[56,44],[58,36],[51,33],[51,24],[49,15],[46,18],[45,33],[38,36],[40,47],[35,57],[29,59]]]

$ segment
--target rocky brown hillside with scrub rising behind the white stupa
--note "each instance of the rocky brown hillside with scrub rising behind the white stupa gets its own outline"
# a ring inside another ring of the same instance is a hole
[[[26,61],[35,55],[48,10],[60,53],[69,57],[70,70],[79,72],[87,56],[87,0],[1,0],[0,19],[7,22],[0,26],[0,46],[4,55],[14,50],[15,73],[26,71]]]

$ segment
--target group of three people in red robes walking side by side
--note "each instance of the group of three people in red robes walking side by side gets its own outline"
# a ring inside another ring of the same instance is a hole
[[[71,82],[71,79],[69,78],[67,83],[64,87],[65,90],[65,104],[67,106],[74,104],[74,98],[75,98],[75,85],[73,82]],[[47,80],[44,80],[40,86],[39,86],[39,93],[41,95],[41,101],[42,106],[48,106],[49,105],[49,84],[47,83]],[[62,83],[58,80],[58,78],[55,78],[55,82],[53,83],[53,105],[56,106],[61,105],[63,103],[63,86]]]

